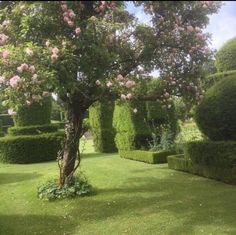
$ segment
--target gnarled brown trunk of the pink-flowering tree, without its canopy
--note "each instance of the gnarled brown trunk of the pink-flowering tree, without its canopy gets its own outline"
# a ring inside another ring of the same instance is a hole
[[[73,175],[80,164],[79,140],[83,133],[84,111],[73,107],[67,110],[67,124],[65,126],[65,142],[62,151],[59,184],[62,187],[66,183],[73,182]],[[78,160],[77,165],[76,159]]]

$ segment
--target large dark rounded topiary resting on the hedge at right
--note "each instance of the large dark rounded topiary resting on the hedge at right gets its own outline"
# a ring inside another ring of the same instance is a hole
[[[199,129],[211,140],[236,140],[236,76],[211,87],[196,107]]]

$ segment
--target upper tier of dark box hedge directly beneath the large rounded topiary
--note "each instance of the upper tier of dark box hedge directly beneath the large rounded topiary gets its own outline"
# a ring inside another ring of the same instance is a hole
[[[235,141],[194,141],[184,146],[184,154],[193,163],[205,166],[236,167]]]

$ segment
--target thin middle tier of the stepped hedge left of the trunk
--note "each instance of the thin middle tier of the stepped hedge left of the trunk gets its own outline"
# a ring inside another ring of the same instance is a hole
[[[9,135],[38,135],[42,133],[56,132],[59,128],[57,124],[39,125],[39,126],[23,126],[8,128]]]

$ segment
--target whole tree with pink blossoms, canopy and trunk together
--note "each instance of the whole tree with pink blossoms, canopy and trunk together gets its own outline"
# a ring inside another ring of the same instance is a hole
[[[0,3],[0,82],[9,107],[17,112],[55,92],[67,113],[61,186],[80,164],[82,121],[95,101],[160,99],[168,105],[172,95],[202,98],[200,68],[211,56],[202,28],[220,3],[135,4],[151,15],[150,25],[139,25],[120,1]],[[147,89],[143,79],[154,68],[162,93],[155,86]]]

